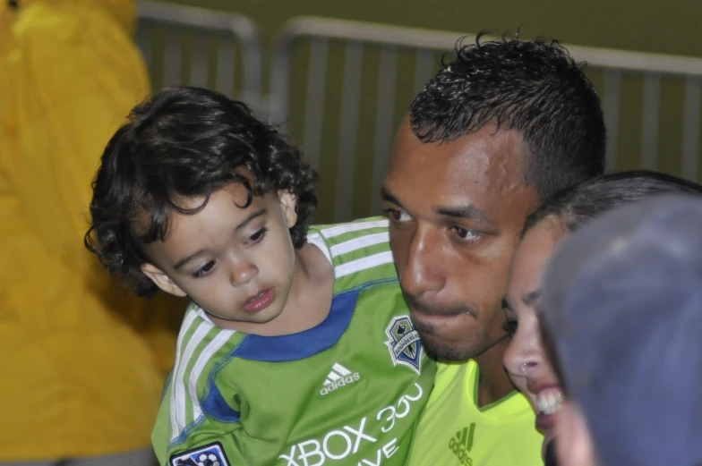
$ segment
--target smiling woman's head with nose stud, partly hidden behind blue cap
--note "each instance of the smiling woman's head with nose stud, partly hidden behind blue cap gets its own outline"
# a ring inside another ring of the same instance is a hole
[[[539,319],[541,276],[552,253],[569,234],[612,208],[664,193],[702,194],[702,186],[655,172],[607,174],[561,191],[525,223],[512,261],[505,295],[507,327],[513,333],[505,353],[509,377],[526,394],[537,414],[544,443],[553,436],[563,392]]]

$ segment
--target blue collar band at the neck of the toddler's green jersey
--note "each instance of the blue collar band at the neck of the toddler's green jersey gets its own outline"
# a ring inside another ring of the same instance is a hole
[[[261,362],[304,360],[330,349],[347,331],[354,317],[360,290],[342,292],[331,301],[330,313],[321,324],[293,335],[246,335],[233,356]]]

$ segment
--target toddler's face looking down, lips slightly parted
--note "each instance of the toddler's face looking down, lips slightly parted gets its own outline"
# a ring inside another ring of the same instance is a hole
[[[174,213],[166,241],[144,246],[151,264],[142,271],[165,292],[188,296],[219,326],[266,324],[285,308],[293,283],[295,197],[254,196],[232,183],[210,196],[194,215]],[[184,208],[202,199],[185,199]],[[247,326],[248,328],[248,326]],[[265,333],[265,332],[264,332]]]

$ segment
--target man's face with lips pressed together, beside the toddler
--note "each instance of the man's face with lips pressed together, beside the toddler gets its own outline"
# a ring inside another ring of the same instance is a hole
[[[434,357],[475,358],[504,337],[509,264],[536,194],[518,132],[482,130],[425,144],[407,120],[382,197],[412,320]]]

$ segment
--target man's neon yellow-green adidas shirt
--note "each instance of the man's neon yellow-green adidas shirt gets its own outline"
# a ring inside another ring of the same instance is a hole
[[[410,466],[543,465],[543,436],[524,395],[476,405],[478,365],[440,363],[434,390],[415,432]]]

